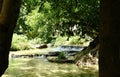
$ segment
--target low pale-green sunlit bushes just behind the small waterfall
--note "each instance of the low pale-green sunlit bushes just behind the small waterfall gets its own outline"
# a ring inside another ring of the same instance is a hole
[[[81,46],[87,46],[88,43],[92,40],[91,37],[85,36],[85,38],[82,38],[80,36],[59,36],[56,38],[54,46],[59,46],[59,45],[81,45]]]

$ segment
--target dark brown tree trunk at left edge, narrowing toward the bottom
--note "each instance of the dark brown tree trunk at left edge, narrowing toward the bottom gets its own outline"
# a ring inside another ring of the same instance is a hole
[[[21,0],[0,0],[0,76],[8,67],[9,50]]]

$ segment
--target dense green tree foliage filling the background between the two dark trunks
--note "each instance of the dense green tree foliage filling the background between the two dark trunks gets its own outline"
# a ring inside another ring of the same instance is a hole
[[[23,0],[15,36],[22,36],[25,44],[29,40],[56,44],[59,38],[68,41],[74,36],[76,43],[82,38],[89,41],[99,33],[99,4],[99,0]]]

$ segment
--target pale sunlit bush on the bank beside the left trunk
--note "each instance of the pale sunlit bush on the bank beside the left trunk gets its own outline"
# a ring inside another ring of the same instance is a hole
[[[17,51],[17,50],[27,50],[31,49],[28,39],[24,35],[13,35],[12,45],[11,45],[11,51]]]

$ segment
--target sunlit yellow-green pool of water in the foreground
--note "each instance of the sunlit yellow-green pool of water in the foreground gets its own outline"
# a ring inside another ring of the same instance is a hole
[[[2,77],[98,77],[94,68],[80,68],[75,64],[58,64],[43,59],[11,59]]]

